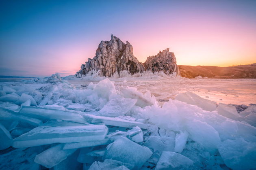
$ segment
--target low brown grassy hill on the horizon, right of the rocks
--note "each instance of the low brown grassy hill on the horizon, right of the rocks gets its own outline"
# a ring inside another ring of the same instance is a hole
[[[183,66],[180,68],[181,77],[195,78],[197,76],[212,79],[255,79],[256,64],[217,67],[217,66]]]

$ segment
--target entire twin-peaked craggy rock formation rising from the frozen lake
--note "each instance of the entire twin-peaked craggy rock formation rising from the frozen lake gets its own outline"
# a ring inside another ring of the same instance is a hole
[[[174,53],[169,52],[169,48],[159,52],[155,56],[148,57],[145,63],[141,63],[133,55],[132,45],[126,41],[123,43],[116,36],[111,35],[110,41],[101,41],[96,55],[93,59],[82,64],[81,70],[76,72],[76,76],[93,75],[105,77],[123,77],[130,74],[141,74],[144,71],[160,72],[171,74],[178,73],[176,58]]]

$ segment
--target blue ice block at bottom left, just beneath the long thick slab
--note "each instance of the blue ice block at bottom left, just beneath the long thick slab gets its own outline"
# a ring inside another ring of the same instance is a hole
[[[76,149],[63,150],[63,145],[64,144],[58,144],[43,151],[35,157],[34,161],[46,168],[52,168],[76,151]]]

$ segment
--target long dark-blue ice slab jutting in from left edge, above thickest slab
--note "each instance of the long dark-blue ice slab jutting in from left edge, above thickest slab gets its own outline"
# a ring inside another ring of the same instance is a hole
[[[42,124],[42,121],[39,119],[19,115],[17,112],[5,108],[0,108],[0,120],[18,120],[22,123],[28,123],[34,127]]]

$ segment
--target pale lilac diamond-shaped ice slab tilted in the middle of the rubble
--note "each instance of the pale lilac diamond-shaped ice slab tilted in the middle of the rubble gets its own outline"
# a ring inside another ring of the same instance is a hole
[[[137,102],[137,99],[115,98],[107,102],[103,108],[98,111],[101,116],[117,117],[125,115]]]

